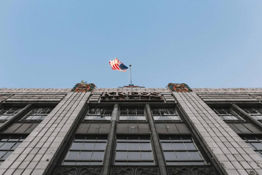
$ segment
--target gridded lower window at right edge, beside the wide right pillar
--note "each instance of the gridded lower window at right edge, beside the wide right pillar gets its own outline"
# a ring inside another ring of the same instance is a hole
[[[262,157],[262,137],[242,137],[242,139],[260,156]]]

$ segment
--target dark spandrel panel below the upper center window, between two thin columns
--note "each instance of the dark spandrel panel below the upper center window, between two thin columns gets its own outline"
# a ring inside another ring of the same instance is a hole
[[[118,134],[150,134],[148,123],[118,123],[117,131]]]

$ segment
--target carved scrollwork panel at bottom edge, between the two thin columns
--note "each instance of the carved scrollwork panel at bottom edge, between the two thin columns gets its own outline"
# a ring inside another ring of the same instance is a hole
[[[111,175],[158,175],[157,168],[112,168]]]

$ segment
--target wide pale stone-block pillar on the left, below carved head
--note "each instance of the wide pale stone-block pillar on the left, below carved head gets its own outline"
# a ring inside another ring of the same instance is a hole
[[[91,92],[69,92],[0,166],[0,174],[45,174]]]

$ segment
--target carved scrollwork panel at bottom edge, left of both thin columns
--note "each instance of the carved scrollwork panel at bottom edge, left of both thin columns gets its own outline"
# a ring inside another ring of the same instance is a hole
[[[58,167],[54,175],[100,175],[102,168],[64,168]]]

